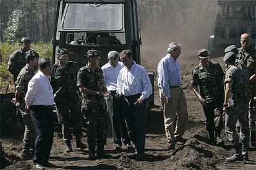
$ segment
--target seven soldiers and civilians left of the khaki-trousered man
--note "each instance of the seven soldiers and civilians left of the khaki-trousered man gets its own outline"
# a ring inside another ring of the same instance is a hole
[[[39,54],[30,49],[28,38],[22,38],[20,43],[22,48],[11,55],[8,69],[14,75],[16,89],[12,102],[22,113],[25,124],[22,158],[33,158],[36,169],[54,166],[48,161],[53,144],[54,105],[67,145],[64,152],[72,152],[70,122],[76,147],[87,148],[81,142],[85,118],[88,157],[109,158],[104,151],[109,111],[115,150],[121,152],[123,140],[137,158],[143,157],[146,105],[152,87],[145,69],[133,61],[131,51],[109,52],[109,62],[101,69],[98,67],[101,52],[89,50],[86,65],[78,69],[77,63],[69,61],[66,49],[58,49],[58,61],[52,65],[49,59],[39,59]],[[122,63],[118,62],[119,55]]]

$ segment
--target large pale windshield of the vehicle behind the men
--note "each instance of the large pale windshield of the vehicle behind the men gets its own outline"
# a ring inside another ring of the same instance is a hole
[[[67,4],[63,30],[124,31],[123,4]]]

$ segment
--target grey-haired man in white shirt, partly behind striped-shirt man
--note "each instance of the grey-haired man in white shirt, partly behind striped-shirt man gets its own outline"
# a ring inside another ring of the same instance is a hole
[[[124,121],[124,115],[122,110],[123,97],[116,97],[116,83],[119,71],[124,65],[122,62],[118,62],[119,53],[117,51],[108,52],[109,62],[101,67],[103,76],[105,78],[106,87],[109,95],[106,97],[106,103],[110,116],[114,144],[116,144],[116,152],[121,152],[122,140],[128,150],[134,150],[130,144],[130,138],[127,133],[126,122]],[[122,138],[122,140],[121,140]]]

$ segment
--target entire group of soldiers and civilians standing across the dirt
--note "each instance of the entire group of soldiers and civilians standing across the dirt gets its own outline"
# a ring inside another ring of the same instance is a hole
[[[248,159],[248,112],[252,117],[252,110],[255,110],[255,49],[250,49],[249,41],[249,34],[245,33],[241,35],[240,49],[236,46],[225,49],[223,62],[227,67],[226,74],[218,63],[208,60],[207,49],[198,51],[200,64],[192,73],[192,89],[203,105],[207,131],[213,144],[223,142],[221,129],[225,113],[226,133],[236,150],[236,154],[227,161]],[[98,67],[101,52],[89,50],[86,65],[79,69],[77,63],[69,61],[66,49],[58,49],[58,61],[52,65],[49,59],[38,62],[39,54],[30,49],[28,38],[22,38],[20,42],[22,48],[11,55],[8,70],[14,75],[15,81],[16,91],[12,102],[22,113],[25,124],[23,158],[34,157],[36,169],[54,166],[48,162],[53,144],[53,105],[56,105],[67,145],[64,152],[72,152],[71,120],[76,147],[87,148],[81,142],[82,120],[87,119],[89,158],[108,158],[104,145],[109,113],[115,150],[121,152],[123,142],[129,151],[135,151],[136,158],[143,158],[147,98],[152,93],[152,86],[147,72],[134,62],[130,50],[120,53],[110,51],[108,63],[101,68]],[[167,55],[157,67],[170,150],[176,147],[176,142],[186,142],[182,135],[186,131],[188,114],[186,96],[181,87],[181,68],[177,62],[180,54],[181,44],[171,42]],[[236,132],[238,125],[241,125],[242,145]]]

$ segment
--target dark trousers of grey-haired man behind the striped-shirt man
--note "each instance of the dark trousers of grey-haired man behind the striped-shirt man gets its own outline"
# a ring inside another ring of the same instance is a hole
[[[130,144],[130,138],[126,128],[126,121],[124,121],[124,109],[122,107],[122,97],[116,97],[116,91],[111,91],[106,99],[108,105],[108,112],[112,126],[114,144],[124,145]],[[121,140],[122,139],[122,140]]]

